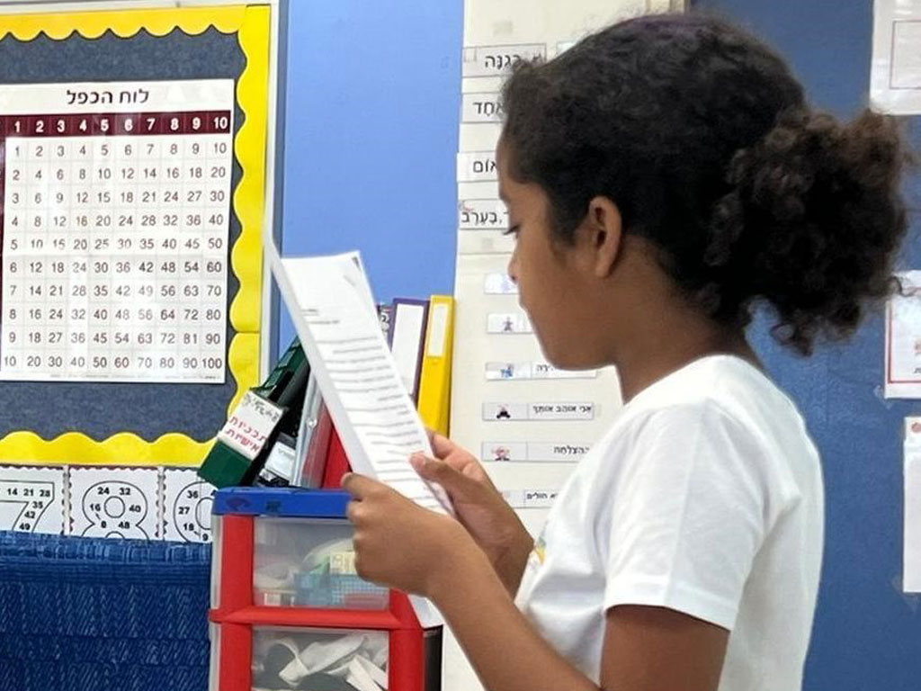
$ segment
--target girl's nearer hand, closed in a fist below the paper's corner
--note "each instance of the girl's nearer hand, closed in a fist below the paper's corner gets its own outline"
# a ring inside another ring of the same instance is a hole
[[[451,578],[458,559],[479,552],[458,521],[377,480],[350,473],[343,488],[353,497],[348,517],[355,525],[355,566],[365,580],[431,597]]]

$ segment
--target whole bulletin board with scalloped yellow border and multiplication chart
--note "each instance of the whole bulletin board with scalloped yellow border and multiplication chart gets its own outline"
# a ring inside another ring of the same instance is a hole
[[[270,33],[0,15],[2,463],[197,465],[258,383]]]

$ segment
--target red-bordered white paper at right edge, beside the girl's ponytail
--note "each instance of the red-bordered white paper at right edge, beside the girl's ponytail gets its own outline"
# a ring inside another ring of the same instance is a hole
[[[886,306],[886,398],[921,398],[921,271],[899,275]]]

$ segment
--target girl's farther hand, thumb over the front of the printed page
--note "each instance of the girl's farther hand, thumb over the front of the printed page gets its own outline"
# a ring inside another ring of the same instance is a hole
[[[426,480],[445,488],[458,520],[514,594],[534,541],[472,453],[440,434],[429,437],[436,458],[417,453],[410,462]]]

